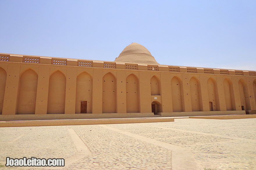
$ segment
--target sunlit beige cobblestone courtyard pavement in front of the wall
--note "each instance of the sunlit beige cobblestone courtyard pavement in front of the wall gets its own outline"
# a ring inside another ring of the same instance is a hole
[[[0,128],[6,157],[65,158],[65,167],[1,169],[256,170],[256,119]]]

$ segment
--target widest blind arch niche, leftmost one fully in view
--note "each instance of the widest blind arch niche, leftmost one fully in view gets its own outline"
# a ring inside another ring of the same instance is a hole
[[[38,74],[28,69],[19,77],[17,114],[35,114]]]

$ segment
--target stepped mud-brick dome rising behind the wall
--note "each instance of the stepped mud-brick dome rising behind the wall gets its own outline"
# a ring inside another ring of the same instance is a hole
[[[151,53],[138,43],[131,43],[120,53],[115,59],[115,62],[120,63],[140,63],[158,65]]]

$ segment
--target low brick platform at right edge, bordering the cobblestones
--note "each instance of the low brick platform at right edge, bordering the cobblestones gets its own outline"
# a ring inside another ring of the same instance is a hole
[[[224,116],[189,116],[189,118],[195,119],[248,119],[256,118],[256,114],[246,114],[246,115],[224,115]]]

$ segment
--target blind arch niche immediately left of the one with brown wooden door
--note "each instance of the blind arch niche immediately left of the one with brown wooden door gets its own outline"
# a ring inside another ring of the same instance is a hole
[[[47,114],[64,114],[66,96],[66,77],[57,70],[49,78]]]

